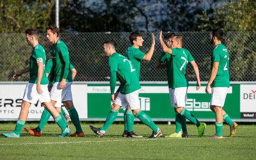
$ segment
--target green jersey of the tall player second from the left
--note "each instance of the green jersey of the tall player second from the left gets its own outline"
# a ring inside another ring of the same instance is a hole
[[[66,79],[66,82],[72,82],[72,76],[69,75],[69,50],[64,42],[58,40],[51,46],[52,72],[50,72],[50,81],[60,82]]]

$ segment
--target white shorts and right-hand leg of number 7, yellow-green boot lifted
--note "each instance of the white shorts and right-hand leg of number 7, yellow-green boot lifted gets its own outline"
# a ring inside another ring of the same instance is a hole
[[[177,113],[185,116],[189,121],[193,122],[197,126],[198,137],[202,137],[204,134],[206,124],[197,120],[197,118],[187,109],[185,109],[186,105],[186,97],[187,97],[187,87],[179,87],[173,89],[175,104],[177,104]]]

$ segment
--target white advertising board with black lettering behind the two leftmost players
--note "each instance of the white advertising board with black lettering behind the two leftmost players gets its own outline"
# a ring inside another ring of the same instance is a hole
[[[26,84],[0,84],[0,120],[13,121],[19,118],[25,86]],[[87,118],[87,85],[73,84],[71,87],[73,103],[79,118]],[[43,110],[40,102],[31,104],[28,121],[39,120]]]

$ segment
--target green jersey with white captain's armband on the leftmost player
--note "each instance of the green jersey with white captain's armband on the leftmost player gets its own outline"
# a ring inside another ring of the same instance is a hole
[[[41,45],[33,47],[30,56],[30,81],[29,83],[36,84],[38,78],[38,65],[37,63],[43,62],[44,69],[40,85],[47,85],[49,83],[45,72],[45,50]]]

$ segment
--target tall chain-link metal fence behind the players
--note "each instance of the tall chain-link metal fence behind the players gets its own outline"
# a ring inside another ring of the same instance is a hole
[[[164,35],[167,32],[164,33]],[[184,36],[184,46],[194,57],[200,72],[201,81],[208,81],[210,76],[210,56],[213,46],[209,43],[209,32],[175,32]],[[113,39],[117,42],[117,52],[124,54],[130,46],[129,34],[119,33],[60,33],[69,48],[70,62],[78,74],[75,81],[108,81],[108,59],[103,54],[102,43]],[[144,32],[143,47],[147,53],[151,45],[151,33]],[[156,62],[162,50],[159,33],[154,33],[156,45],[151,61],[141,62],[140,81],[166,81],[166,69],[156,68]],[[226,32],[223,44],[229,52],[230,81],[256,81],[256,31]],[[41,33],[39,43],[45,48],[47,59],[50,58],[50,46],[45,33]],[[12,75],[29,66],[31,47],[25,41],[25,34],[0,34],[0,81],[16,81]],[[189,81],[196,81],[191,65]],[[22,75],[18,81],[28,81],[29,75]]]

